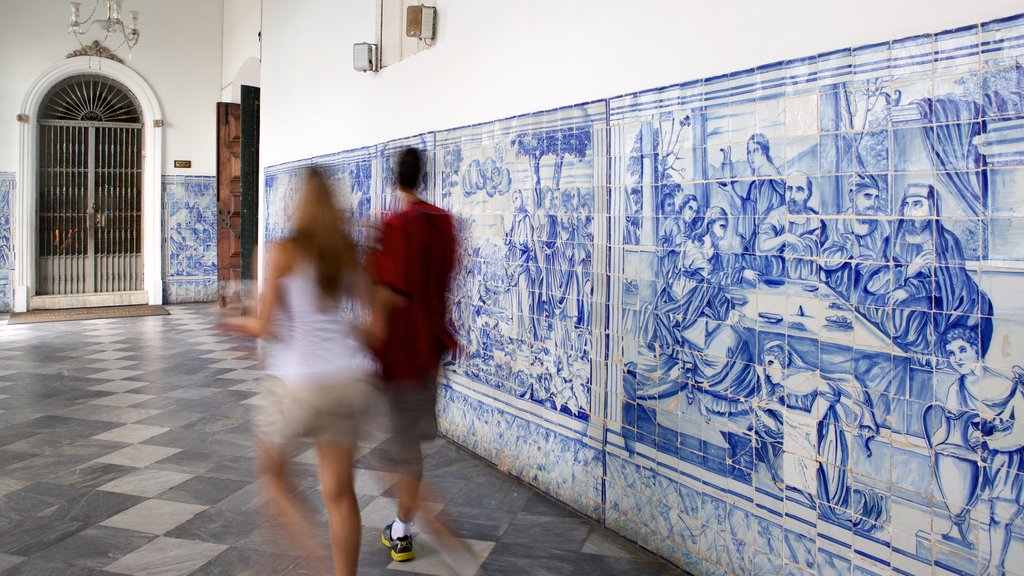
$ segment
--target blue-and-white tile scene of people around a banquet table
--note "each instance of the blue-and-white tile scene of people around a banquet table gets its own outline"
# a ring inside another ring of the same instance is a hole
[[[624,454],[879,566],[1024,561],[1021,306],[986,270],[1024,239],[1024,68],[986,34],[610,100]]]

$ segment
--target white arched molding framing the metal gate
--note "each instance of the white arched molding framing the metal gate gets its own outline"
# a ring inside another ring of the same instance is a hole
[[[151,304],[163,303],[161,174],[163,172],[164,115],[157,94],[137,72],[111,59],[76,56],[43,72],[25,96],[18,116],[17,186],[14,192],[14,312],[32,304],[36,284],[36,176],[38,172],[36,114],[46,93],[57,82],[81,74],[116,80],[128,88],[142,108],[142,285]]]

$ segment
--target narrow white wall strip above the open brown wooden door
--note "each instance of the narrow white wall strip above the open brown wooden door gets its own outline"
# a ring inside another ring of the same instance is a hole
[[[241,101],[241,86],[260,85],[261,0],[223,0],[224,52],[220,71],[221,101]]]

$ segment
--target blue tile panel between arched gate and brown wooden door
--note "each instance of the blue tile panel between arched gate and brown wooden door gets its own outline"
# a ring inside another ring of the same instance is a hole
[[[164,176],[164,299],[208,302],[217,294],[217,178]]]

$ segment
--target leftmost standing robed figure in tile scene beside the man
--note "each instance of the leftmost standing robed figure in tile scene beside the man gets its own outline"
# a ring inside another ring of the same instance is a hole
[[[540,313],[535,294],[541,291],[541,271],[535,249],[534,222],[522,192],[512,193],[512,224],[505,232],[505,261],[512,288],[516,334],[527,341],[541,338]]]

